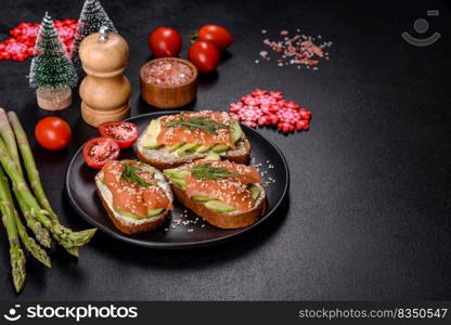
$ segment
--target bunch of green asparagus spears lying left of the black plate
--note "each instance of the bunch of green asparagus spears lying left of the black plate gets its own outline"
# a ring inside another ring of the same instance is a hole
[[[9,112],[7,115],[4,109],[0,108],[0,212],[10,242],[14,286],[20,291],[26,274],[21,240],[33,257],[50,268],[50,258],[40,245],[50,248],[53,237],[70,255],[78,257],[78,248],[87,244],[96,230],[74,232],[60,223],[43,191],[26,133],[14,112]],[[25,173],[22,169],[21,156]],[[26,225],[40,245],[28,235],[14,207],[10,188],[16,197]]]

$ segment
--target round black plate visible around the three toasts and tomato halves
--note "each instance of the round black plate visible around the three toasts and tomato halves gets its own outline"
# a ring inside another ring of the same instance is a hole
[[[140,131],[149,121],[162,115],[179,112],[162,112],[134,116],[128,121],[137,123]],[[252,145],[252,165],[262,173],[262,183],[267,183],[268,209],[255,224],[236,230],[221,230],[209,225],[191,211],[175,203],[169,221],[155,231],[126,235],[119,232],[109,220],[95,193],[95,170],[89,168],[82,158],[81,147],[74,155],[66,174],[66,191],[70,204],[89,223],[113,237],[154,248],[189,248],[218,243],[242,234],[274,214],[286,195],[289,183],[288,167],[280,150],[270,140],[256,130],[242,126]],[[120,158],[136,158],[133,150],[123,151]]]

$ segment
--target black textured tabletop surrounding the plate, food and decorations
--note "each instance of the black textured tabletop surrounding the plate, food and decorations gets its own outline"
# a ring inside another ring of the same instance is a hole
[[[28,259],[18,299],[450,299],[451,101],[450,5],[446,1],[103,1],[131,49],[127,76],[132,114],[138,70],[149,58],[153,28],[190,35],[205,23],[230,28],[236,42],[218,74],[201,82],[195,108],[226,109],[255,88],[275,89],[313,112],[311,130],[261,132],[285,154],[289,203],[267,224],[227,245],[191,251],[129,246],[99,233],[79,261],[52,253],[46,270]],[[0,37],[22,21],[77,18],[81,1],[2,1]],[[442,38],[414,48],[400,34],[427,9]],[[274,36],[300,27],[334,46],[318,72],[255,65],[260,29]],[[185,55],[186,46],[183,48]],[[25,78],[30,61],[0,62],[0,106],[18,112],[33,134],[48,113]],[[74,152],[95,131],[65,112],[70,146],[33,146],[44,187],[61,219],[88,224],[69,207],[64,173]],[[33,136],[31,136],[33,139]],[[5,233],[0,231],[0,297],[14,298]]]

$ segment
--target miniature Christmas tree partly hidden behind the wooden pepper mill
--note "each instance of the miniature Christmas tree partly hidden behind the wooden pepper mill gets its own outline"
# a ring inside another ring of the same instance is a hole
[[[77,30],[75,32],[72,58],[77,69],[80,68],[80,58],[78,48],[81,41],[89,35],[98,32],[100,27],[105,26],[109,30],[117,32],[113,22],[109,20],[99,0],[86,0],[78,20]]]

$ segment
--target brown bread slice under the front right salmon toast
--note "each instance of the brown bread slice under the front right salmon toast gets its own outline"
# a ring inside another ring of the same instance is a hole
[[[220,229],[236,229],[245,227],[257,222],[267,209],[268,199],[266,191],[260,184],[255,185],[260,188],[260,196],[257,198],[255,206],[247,211],[233,211],[229,213],[220,213],[208,209],[204,203],[190,198],[177,185],[171,184],[171,187],[175,196],[183,206],[202,217],[208,223]]]

